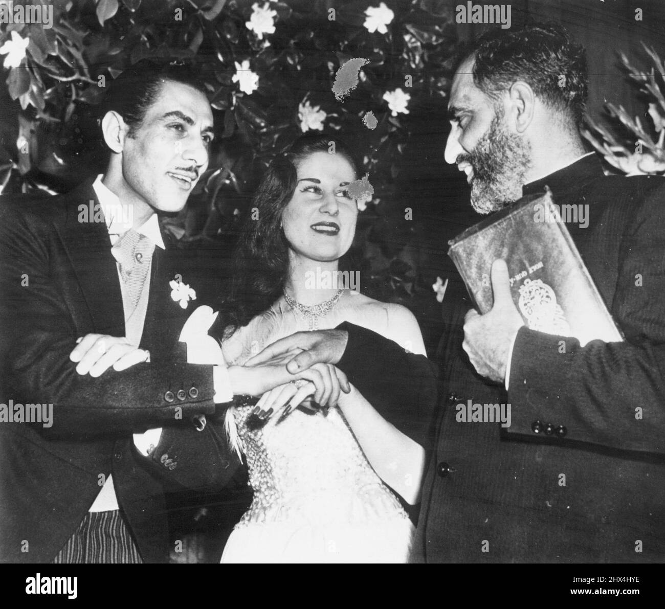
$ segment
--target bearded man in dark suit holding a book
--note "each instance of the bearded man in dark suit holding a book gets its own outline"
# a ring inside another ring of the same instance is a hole
[[[487,314],[447,295],[414,562],[665,560],[665,181],[604,176],[585,154],[586,79],[583,49],[559,27],[483,37],[454,78],[446,160],[466,172],[481,213],[545,185],[557,204],[586,206],[567,228],[626,340],[582,347],[530,330],[503,261]],[[352,361],[362,392],[385,379],[386,400],[408,404],[394,375],[424,378],[425,363],[347,329],[301,337],[309,350],[289,367]],[[511,425],[458,422],[468,400],[511,404]]]

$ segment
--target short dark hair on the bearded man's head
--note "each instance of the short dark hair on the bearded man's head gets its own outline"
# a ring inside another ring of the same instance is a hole
[[[545,104],[568,114],[579,126],[587,102],[587,58],[582,45],[557,23],[531,23],[494,29],[464,49],[460,63],[473,56],[473,82],[497,98],[513,82],[531,86]]]

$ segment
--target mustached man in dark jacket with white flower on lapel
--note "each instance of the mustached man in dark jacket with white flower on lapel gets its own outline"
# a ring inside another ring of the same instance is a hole
[[[180,342],[196,291],[217,289],[156,215],[182,209],[207,168],[213,117],[192,66],[134,64],[102,117],[103,176],[0,201],[5,562],[168,560],[162,478],[227,483],[238,461],[215,404],[293,378],[188,363],[205,360],[201,336],[186,355]]]

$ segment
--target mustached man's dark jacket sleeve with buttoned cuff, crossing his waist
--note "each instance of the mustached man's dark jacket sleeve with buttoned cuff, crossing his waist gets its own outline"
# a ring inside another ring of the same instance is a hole
[[[213,414],[211,366],[164,361],[99,378],[76,373],[69,354],[80,330],[49,271],[45,238],[11,206],[0,205],[3,402],[53,404],[53,426],[37,426],[44,435],[143,431]],[[184,400],[165,397],[193,387]]]

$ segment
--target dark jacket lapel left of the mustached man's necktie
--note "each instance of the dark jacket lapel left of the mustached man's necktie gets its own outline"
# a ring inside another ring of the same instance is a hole
[[[94,221],[95,218],[101,221]],[[124,336],[120,280],[92,183],[80,185],[67,197],[61,239],[74,267],[82,299],[88,306],[94,331]]]

